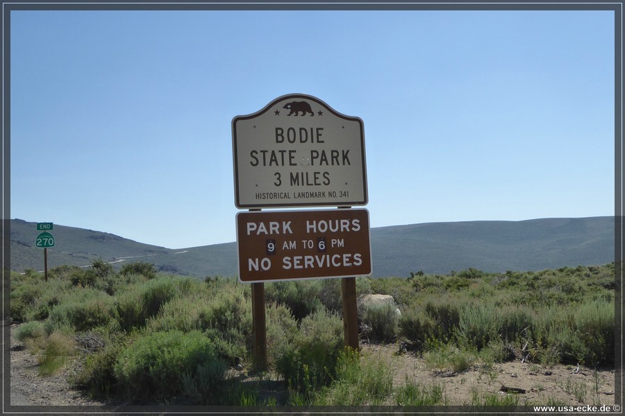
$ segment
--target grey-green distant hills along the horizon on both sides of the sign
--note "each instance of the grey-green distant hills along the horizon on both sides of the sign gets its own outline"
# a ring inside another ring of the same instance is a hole
[[[43,269],[35,248],[35,223],[10,221],[10,267]],[[476,268],[485,272],[592,266],[614,261],[614,217],[543,218],[525,221],[462,221],[371,229],[374,277],[408,277],[423,270],[447,274]],[[147,261],[177,275],[237,274],[237,245],[224,243],[171,250],[115,234],[54,225],[56,244],[48,267],[88,266],[103,259],[121,266]]]

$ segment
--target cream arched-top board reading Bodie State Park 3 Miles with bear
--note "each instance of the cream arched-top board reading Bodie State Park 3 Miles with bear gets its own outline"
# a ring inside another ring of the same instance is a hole
[[[276,98],[232,121],[238,208],[366,205],[365,134],[358,117],[306,94]]]

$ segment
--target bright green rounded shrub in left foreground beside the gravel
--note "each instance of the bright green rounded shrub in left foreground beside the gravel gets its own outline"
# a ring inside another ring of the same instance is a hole
[[[219,361],[215,346],[199,331],[155,332],[123,349],[114,375],[133,398],[167,398],[182,392],[183,376],[194,379],[202,366],[214,361]]]

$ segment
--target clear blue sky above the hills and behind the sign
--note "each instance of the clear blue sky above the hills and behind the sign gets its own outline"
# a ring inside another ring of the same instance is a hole
[[[363,119],[372,227],[614,215],[610,11],[18,10],[10,30],[11,218],[235,241],[231,121],[294,93]]]

